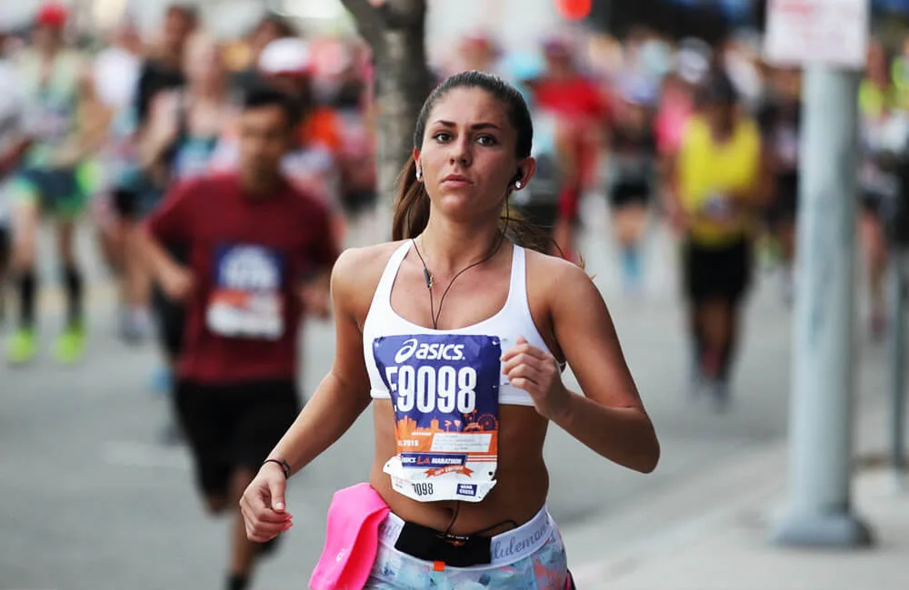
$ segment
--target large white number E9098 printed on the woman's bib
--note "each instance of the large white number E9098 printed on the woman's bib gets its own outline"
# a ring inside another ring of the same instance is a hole
[[[387,367],[385,378],[397,393],[395,408],[400,412],[416,408],[424,414],[436,409],[449,414],[456,409],[461,414],[470,414],[476,408],[476,369],[473,367]]]

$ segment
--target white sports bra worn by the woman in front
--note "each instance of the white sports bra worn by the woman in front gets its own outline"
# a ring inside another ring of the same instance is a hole
[[[447,358],[458,357],[461,351],[457,344],[445,344],[445,335],[457,336],[489,336],[501,342],[504,352],[514,346],[518,336],[524,336],[531,345],[552,354],[546,346],[543,337],[536,329],[534,319],[527,303],[527,272],[526,253],[524,248],[514,245],[512,255],[511,281],[508,289],[508,299],[504,307],[493,317],[475,323],[471,326],[456,329],[432,329],[419,326],[405,320],[392,309],[391,295],[395,284],[398,269],[410,251],[412,241],[406,241],[392,254],[388,260],[382,278],[375,288],[372,304],[366,314],[363,326],[363,351],[366,369],[369,372],[370,395],[375,399],[388,399],[391,394],[383,379],[383,373],[376,363],[377,339],[388,337],[406,337],[401,341],[401,346],[395,352],[395,361],[400,359],[425,359],[425,364],[431,361],[442,361]],[[425,337],[425,338],[421,338]],[[424,341],[426,340],[426,341]],[[498,383],[499,405],[533,406],[534,402],[524,389],[515,388],[508,378],[501,374]]]

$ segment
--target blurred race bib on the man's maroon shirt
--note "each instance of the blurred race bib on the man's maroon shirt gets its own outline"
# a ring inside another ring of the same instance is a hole
[[[208,329],[228,338],[280,339],[284,335],[280,253],[261,246],[215,251],[215,284],[205,312]]]

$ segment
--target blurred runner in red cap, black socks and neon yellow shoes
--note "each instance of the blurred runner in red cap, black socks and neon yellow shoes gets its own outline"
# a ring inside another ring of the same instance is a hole
[[[57,339],[55,356],[69,364],[85,349],[85,290],[75,251],[75,222],[94,191],[94,156],[105,130],[98,125],[95,84],[85,55],[66,41],[69,19],[64,5],[42,5],[35,15],[31,46],[15,60],[29,144],[10,187],[19,282],[19,326],[7,349],[14,364],[28,362],[38,352],[36,242],[45,216],[54,221],[67,300],[65,329]]]

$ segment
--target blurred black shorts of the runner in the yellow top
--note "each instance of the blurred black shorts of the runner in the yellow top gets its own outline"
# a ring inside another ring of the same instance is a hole
[[[736,304],[751,280],[751,243],[742,238],[722,246],[705,246],[689,239],[684,244],[683,265],[684,291],[689,300]]]

